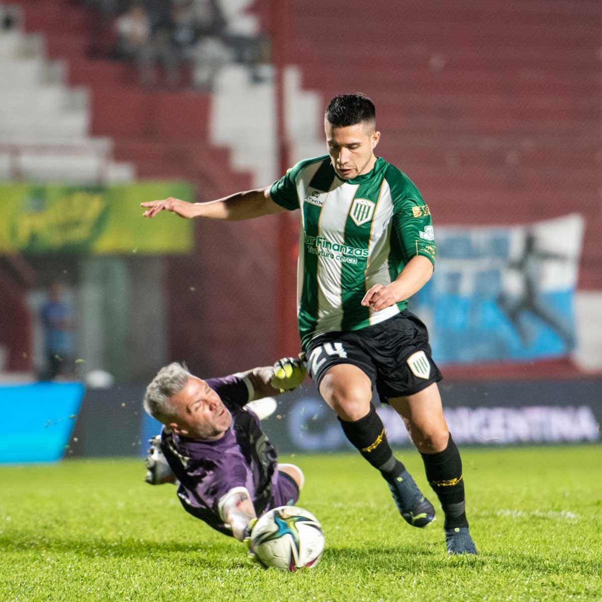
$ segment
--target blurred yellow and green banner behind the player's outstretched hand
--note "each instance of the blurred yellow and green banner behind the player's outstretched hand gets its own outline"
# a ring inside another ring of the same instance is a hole
[[[190,220],[142,217],[141,202],[169,196],[192,201],[193,187],[178,182],[0,184],[0,254],[188,253],[193,247]]]

